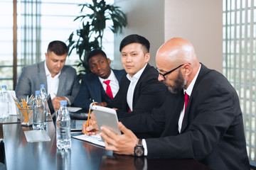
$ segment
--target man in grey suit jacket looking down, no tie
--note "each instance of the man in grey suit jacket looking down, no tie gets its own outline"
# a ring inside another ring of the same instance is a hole
[[[65,65],[68,47],[62,41],[52,41],[48,45],[46,60],[23,67],[16,86],[16,96],[19,101],[26,96],[35,95],[41,84],[45,84],[47,94],[53,100],[55,110],[60,108],[60,101],[73,104],[80,84],[75,69]]]

